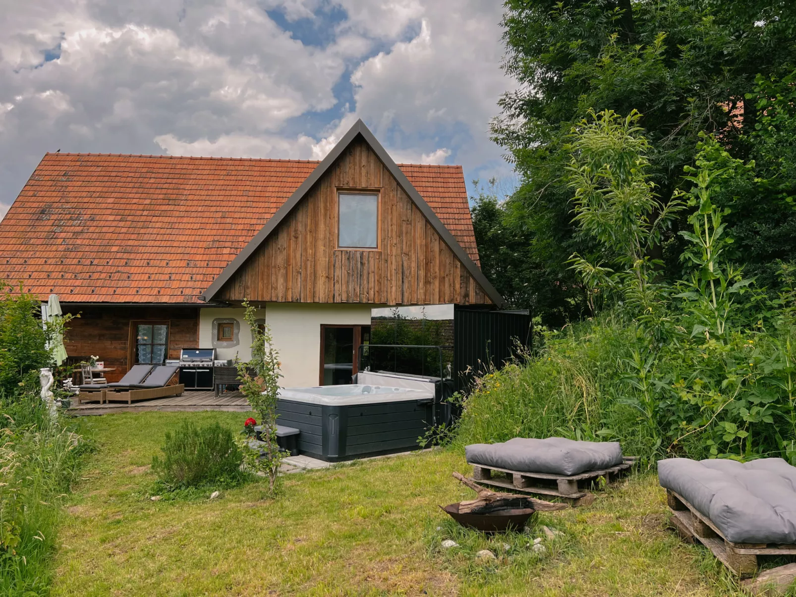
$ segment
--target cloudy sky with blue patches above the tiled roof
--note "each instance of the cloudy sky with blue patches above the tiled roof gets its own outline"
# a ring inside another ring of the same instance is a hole
[[[397,162],[511,178],[501,2],[0,6],[0,216],[46,151],[320,159],[357,118]]]

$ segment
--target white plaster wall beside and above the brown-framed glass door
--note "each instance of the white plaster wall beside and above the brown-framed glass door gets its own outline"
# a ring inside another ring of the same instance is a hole
[[[369,326],[370,309],[374,306],[378,305],[267,303],[265,321],[271,327],[274,347],[279,350],[279,361],[282,363],[284,377],[280,385],[285,388],[318,385],[321,324]]]

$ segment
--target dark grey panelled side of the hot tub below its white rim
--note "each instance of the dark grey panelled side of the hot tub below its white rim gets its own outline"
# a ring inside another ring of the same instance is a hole
[[[298,451],[329,462],[417,449],[431,399],[322,406],[277,400],[279,424],[301,430]]]

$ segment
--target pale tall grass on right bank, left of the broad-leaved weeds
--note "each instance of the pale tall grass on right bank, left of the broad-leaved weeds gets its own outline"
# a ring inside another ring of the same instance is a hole
[[[552,435],[622,442],[626,454],[653,451],[637,412],[619,399],[623,361],[635,332],[615,314],[567,326],[544,349],[477,381],[465,401],[457,442],[494,443]]]

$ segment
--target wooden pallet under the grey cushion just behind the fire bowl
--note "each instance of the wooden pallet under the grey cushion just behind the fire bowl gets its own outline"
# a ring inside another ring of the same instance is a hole
[[[518,470],[501,469],[497,466],[484,466],[473,464],[473,480],[482,485],[502,487],[513,491],[523,491],[527,494],[539,494],[552,497],[560,497],[573,507],[591,504],[594,501],[594,494],[590,494],[592,483],[599,482],[599,478],[605,480],[606,485],[616,481],[623,474],[627,474],[633,463],[638,458],[626,456],[622,458],[622,464],[611,466],[610,469],[589,470],[581,474],[570,476],[563,474],[548,473],[526,473]],[[494,477],[493,471],[499,476]]]

